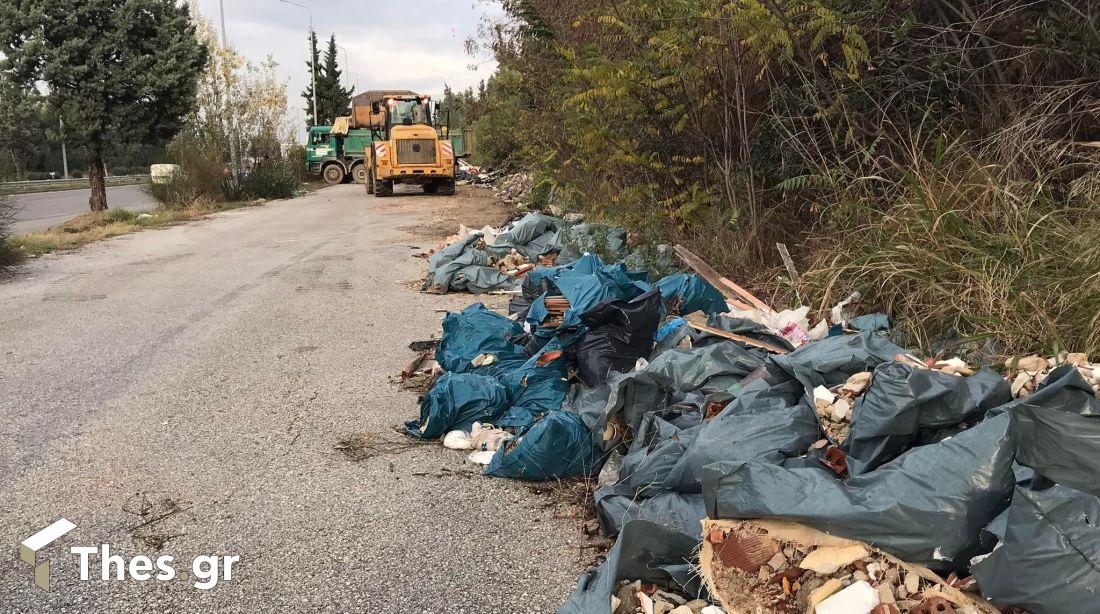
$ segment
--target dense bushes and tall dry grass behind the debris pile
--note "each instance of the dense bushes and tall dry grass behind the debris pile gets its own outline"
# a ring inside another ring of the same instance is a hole
[[[1100,351],[1089,2],[504,6],[499,70],[449,102],[535,206],[689,244],[778,304],[858,289],[927,351]]]

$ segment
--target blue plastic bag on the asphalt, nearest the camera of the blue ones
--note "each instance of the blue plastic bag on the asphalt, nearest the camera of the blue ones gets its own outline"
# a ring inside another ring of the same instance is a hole
[[[576,414],[556,409],[496,451],[487,475],[542,482],[595,474],[600,457]]]

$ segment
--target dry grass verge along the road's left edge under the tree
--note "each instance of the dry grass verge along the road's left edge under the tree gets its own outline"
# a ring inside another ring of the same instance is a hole
[[[210,213],[256,205],[255,201],[199,201],[178,209],[158,207],[147,213],[138,213],[125,209],[88,212],[41,232],[9,237],[4,246],[22,257],[37,257],[51,252],[75,250],[88,243],[130,234],[146,228],[166,228],[197,220]],[[2,251],[0,250],[0,252]]]

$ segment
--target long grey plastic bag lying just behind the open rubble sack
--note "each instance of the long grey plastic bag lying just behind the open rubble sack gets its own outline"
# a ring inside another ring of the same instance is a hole
[[[982,529],[1008,506],[1015,486],[1011,424],[1005,414],[989,417],[846,481],[762,462],[708,464],[703,469],[707,515],[794,520],[910,562],[963,571],[980,553]]]

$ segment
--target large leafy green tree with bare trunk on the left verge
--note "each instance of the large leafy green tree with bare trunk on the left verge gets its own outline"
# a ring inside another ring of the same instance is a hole
[[[6,0],[0,52],[15,83],[46,85],[66,136],[87,150],[94,211],[107,209],[105,152],[170,139],[207,61],[175,0]]]

